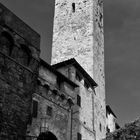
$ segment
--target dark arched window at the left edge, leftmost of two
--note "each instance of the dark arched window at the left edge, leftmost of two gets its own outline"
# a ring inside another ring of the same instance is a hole
[[[0,35],[0,51],[6,55],[10,55],[14,45],[12,36],[4,31]]]

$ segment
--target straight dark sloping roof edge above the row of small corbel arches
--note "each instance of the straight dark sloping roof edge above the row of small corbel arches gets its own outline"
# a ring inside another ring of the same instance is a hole
[[[61,79],[63,79],[64,81],[66,81],[67,83],[69,83],[71,86],[73,87],[78,87],[77,84],[75,84],[74,82],[72,82],[71,80],[69,80],[67,77],[65,77],[63,74],[61,74],[60,72],[58,72],[57,70],[55,70],[55,68],[53,68],[51,65],[49,65],[47,62],[45,62],[44,60],[40,59],[40,64],[44,67],[46,67],[47,69],[49,69],[51,72],[53,72],[54,74],[56,74],[58,77],[61,77]]]

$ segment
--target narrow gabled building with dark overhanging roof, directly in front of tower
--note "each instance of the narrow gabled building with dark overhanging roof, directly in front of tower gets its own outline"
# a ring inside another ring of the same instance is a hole
[[[72,140],[95,140],[94,94],[96,82],[75,59],[53,65],[78,85],[72,106]]]

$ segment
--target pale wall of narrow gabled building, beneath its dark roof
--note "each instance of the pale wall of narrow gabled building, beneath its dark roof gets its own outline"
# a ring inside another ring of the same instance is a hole
[[[73,64],[67,65],[65,63],[65,66],[59,68],[58,71],[78,85],[74,96],[74,106],[72,107],[72,140],[77,140],[78,133],[81,134],[83,140],[95,140],[93,113],[94,90],[90,86],[85,86],[87,77],[85,77],[78,68],[73,66]],[[78,79],[77,74],[81,79]],[[77,95],[79,95],[81,99],[80,106],[77,105]]]

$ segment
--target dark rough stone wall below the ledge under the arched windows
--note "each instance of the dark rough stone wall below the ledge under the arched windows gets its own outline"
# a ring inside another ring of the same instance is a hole
[[[0,134],[25,135],[36,76],[0,53]]]

